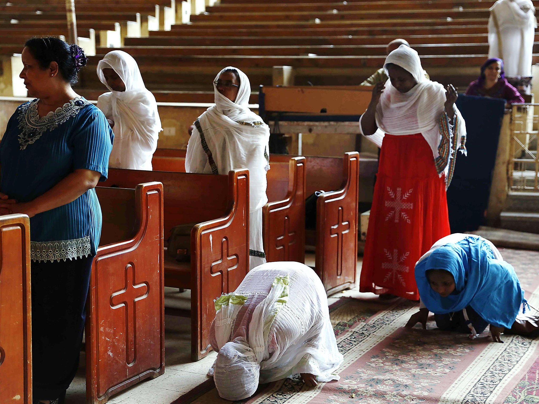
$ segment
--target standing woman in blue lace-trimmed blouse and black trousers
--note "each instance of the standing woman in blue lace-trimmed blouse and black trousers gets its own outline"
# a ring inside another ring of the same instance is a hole
[[[113,133],[71,85],[84,52],[57,38],[26,41],[26,88],[0,142],[0,210],[30,217],[33,396],[64,402],[78,368],[92,260],[101,234],[94,187],[107,178]]]

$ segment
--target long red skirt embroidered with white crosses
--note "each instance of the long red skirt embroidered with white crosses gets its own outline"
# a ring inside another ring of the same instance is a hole
[[[419,299],[414,267],[451,234],[445,178],[421,134],[385,135],[380,152],[360,291]]]

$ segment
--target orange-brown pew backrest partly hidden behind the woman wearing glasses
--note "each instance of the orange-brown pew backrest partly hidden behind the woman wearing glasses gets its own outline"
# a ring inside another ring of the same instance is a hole
[[[181,156],[185,154],[184,152],[185,150],[157,149],[151,159],[151,165],[154,170],[185,172],[185,157]],[[289,170],[288,161],[270,164],[270,168],[266,172],[268,184],[266,195],[269,202],[285,199],[288,191]]]

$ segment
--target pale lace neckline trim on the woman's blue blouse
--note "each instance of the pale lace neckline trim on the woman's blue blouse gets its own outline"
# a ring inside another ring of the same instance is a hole
[[[30,103],[20,106],[20,114],[17,117],[19,121],[19,143],[20,150],[26,149],[26,146],[38,140],[47,130],[54,130],[68,119],[77,115],[82,107],[88,105],[88,101],[82,97],[77,97],[66,102],[63,107],[56,111],[51,111],[47,115],[39,117],[37,111],[39,99],[34,99]]]

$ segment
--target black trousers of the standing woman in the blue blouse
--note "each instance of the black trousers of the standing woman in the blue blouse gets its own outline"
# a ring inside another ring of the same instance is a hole
[[[31,264],[34,400],[63,402],[77,373],[93,259]]]

